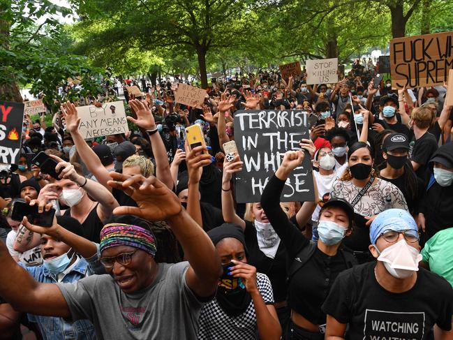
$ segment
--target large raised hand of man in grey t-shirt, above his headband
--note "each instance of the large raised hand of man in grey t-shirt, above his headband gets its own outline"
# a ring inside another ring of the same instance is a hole
[[[182,207],[177,195],[154,176],[131,177],[110,172],[110,177],[113,180],[107,184],[124,191],[138,205],[138,207],[116,207],[113,211],[115,215],[135,215],[149,221],[165,221],[181,212]]]

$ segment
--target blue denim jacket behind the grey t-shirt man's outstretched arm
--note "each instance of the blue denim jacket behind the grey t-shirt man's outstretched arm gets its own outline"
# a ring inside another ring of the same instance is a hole
[[[80,258],[79,263],[66,274],[61,282],[75,282],[83,279],[91,274],[105,274],[103,265],[98,261],[98,253],[91,258]],[[41,283],[56,283],[57,277],[51,274],[44,265],[36,267],[25,267],[19,263]],[[89,320],[78,320],[75,323],[69,323],[64,318],[56,318],[54,316],[38,316],[28,314],[29,320],[36,323],[39,327],[44,340],[96,340],[96,332],[94,326]]]

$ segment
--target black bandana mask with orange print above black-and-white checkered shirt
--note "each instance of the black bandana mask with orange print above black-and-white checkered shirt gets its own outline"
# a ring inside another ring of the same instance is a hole
[[[223,274],[217,286],[216,300],[221,309],[228,316],[239,316],[244,313],[250,304],[252,297],[247,292],[241,278],[228,275],[229,267],[235,264],[230,262],[223,265]]]

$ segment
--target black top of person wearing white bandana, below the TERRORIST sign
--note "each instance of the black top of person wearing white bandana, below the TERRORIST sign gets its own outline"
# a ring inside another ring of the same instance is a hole
[[[268,258],[258,246],[255,226],[251,221],[245,222],[244,236],[248,250],[247,263],[256,267],[258,273],[266,274],[269,277],[275,302],[285,301],[288,287],[286,283],[288,260],[283,242],[280,242],[274,259]]]

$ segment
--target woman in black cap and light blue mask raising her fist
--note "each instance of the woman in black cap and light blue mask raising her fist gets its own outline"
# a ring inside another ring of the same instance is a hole
[[[261,205],[292,260],[288,270],[290,325],[285,339],[324,339],[326,315],[320,309],[336,276],[356,264],[352,253],[340,249],[352,232],[354,211],[345,200],[328,200],[319,213],[317,242],[310,242],[279,205],[286,179],[304,160],[304,151],[288,151],[269,179]],[[308,279],[309,278],[309,279]]]

